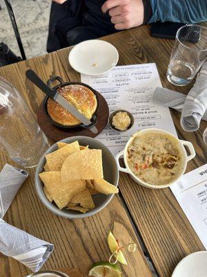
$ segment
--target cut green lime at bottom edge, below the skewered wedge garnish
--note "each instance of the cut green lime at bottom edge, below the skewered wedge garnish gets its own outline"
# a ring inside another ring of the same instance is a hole
[[[111,265],[109,262],[96,262],[92,265],[88,276],[91,277],[121,277],[121,269],[117,265]]]

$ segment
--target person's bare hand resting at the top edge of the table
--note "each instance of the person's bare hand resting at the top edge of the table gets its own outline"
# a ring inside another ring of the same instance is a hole
[[[101,10],[103,13],[108,11],[117,30],[137,27],[144,21],[142,0],[106,0]]]

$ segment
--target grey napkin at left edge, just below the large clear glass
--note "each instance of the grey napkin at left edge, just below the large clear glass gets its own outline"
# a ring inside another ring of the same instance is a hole
[[[27,179],[28,172],[14,168],[8,163],[0,173],[0,218],[6,214],[10,204],[23,182]]]

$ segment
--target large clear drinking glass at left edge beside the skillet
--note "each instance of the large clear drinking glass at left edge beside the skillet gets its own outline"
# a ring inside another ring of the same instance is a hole
[[[0,77],[0,143],[25,168],[37,166],[48,140],[17,89]]]

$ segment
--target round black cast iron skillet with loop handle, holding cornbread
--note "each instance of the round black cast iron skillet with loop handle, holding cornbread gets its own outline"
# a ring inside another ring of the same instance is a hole
[[[59,84],[57,84],[55,87],[52,87],[52,82],[55,82],[55,81],[59,81]],[[70,84],[81,84],[83,87],[88,87],[88,89],[90,89],[97,98],[97,108],[96,108],[95,113],[93,114],[92,118],[90,119],[90,121],[92,122],[90,125],[84,125],[83,123],[80,123],[79,125],[66,126],[66,125],[61,125],[61,124],[55,122],[55,120],[52,120],[52,118],[48,114],[48,109],[47,109],[47,102],[48,102],[48,98],[49,98],[48,96],[46,96],[46,98],[44,99],[43,109],[46,113],[46,116],[48,116],[48,119],[50,120],[50,122],[53,125],[55,125],[56,127],[58,127],[59,129],[65,129],[65,130],[66,129],[77,129],[80,127],[88,129],[97,123],[97,111],[99,109],[99,98],[98,98],[97,91],[95,91],[95,89],[92,89],[92,87],[88,86],[88,84],[83,84],[83,82],[63,82],[62,78],[59,76],[52,77],[47,81],[47,85],[48,85],[48,87],[50,87],[50,89],[59,89],[60,87],[66,87]]]

